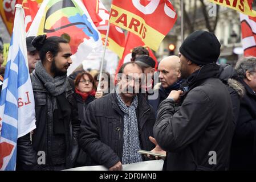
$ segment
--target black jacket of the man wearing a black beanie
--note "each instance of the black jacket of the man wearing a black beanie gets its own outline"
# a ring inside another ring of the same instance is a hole
[[[171,99],[159,106],[153,133],[167,151],[164,169],[225,170],[233,135],[229,92],[218,78],[212,77],[189,86],[177,110]],[[214,162],[212,152],[217,154],[216,164],[209,163]]]

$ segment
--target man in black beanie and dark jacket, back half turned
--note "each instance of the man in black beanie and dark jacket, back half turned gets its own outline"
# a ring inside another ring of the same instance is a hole
[[[166,170],[227,170],[233,135],[232,107],[217,78],[220,42],[213,33],[193,32],[180,47],[180,71],[189,90],[173,90],[159,106],[153,134],[167,152]],[[176,102],[181,106],[174,109]]]

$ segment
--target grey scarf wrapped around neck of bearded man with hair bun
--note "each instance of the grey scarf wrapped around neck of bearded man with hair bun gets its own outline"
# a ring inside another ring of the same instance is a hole
[[[67,75],[52,77],[46,72],[41,61],[35,64],[35,73],[43,81],[44,86],[52,96],[59,96],[65,92],[68,86]]]

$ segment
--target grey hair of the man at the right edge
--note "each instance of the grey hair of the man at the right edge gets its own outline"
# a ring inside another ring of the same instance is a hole
[[[256,70],[256,57],[250,56],[245,57],[238,61],[235,65],[235,71],[237,71],[237,76],[239,78],[246,78],[246,71],[255,72]]]

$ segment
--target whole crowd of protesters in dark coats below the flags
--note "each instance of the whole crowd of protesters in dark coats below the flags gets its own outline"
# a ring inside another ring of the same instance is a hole
[[[83,69],[67,77],[65,39],[27,38],[36,129],[18,139],[17,170],[121,170],[155,159],[164,159],[164,170],[255,170],[256,57],[218,65],[220,47],[213,33],[195,31],[157,71],[147,49],[136,47],[113,81]]]

